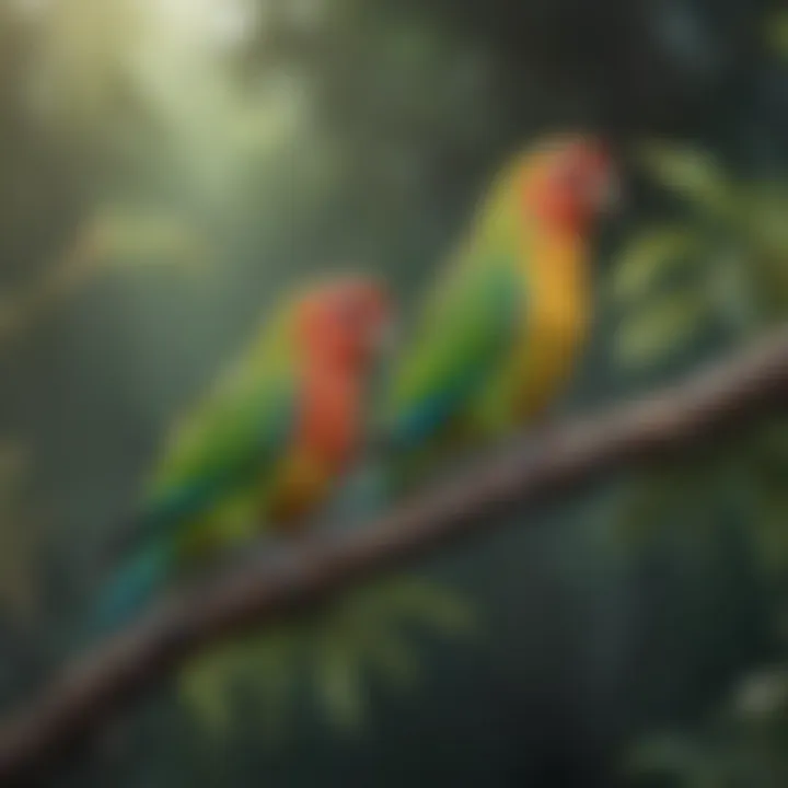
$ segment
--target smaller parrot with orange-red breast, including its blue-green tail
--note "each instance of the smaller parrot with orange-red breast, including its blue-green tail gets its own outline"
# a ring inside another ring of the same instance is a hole
[[[348,276],[298,293],[264,325],[175,430],[136,520],[140,546],[102,600],[102,628],[260,529],[302,526],[362,438],[390,316],[382,286]]]

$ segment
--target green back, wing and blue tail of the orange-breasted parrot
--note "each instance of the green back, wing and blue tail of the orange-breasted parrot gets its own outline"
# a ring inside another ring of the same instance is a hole
[[[102,594],[107,630],[135,615],[197,556],[248,538],[291,439],[298,379],[289,333],[265,332],[173,432],[132,535],[136,547]]]

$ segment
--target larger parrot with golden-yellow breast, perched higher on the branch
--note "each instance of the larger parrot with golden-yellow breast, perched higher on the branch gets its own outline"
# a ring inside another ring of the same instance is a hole
[[[525,150],[495,179],[385,386],[395,475],[506,434],[557,396],[588,332],[592,232],[614,186],[604,146],[581,136]]]

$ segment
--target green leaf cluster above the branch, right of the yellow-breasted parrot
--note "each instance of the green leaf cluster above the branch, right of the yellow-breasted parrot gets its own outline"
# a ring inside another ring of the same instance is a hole
[[[686,213],[642,231],[619,256],[622,361],[652,367],[703,338],[734,344],[784,320],[788,188],[737,183],[696,150],[651,144],[644,162]]]

